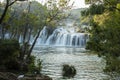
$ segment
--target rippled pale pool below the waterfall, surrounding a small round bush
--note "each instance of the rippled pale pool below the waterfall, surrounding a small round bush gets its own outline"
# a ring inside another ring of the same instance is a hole
[[[43,60],[42,73],[53,80],[110,80],[103,72],[104,60],[84,48],[35,47],[33,54]],[[74,78],[62,79],[63,64],[75,66],[77,74]]]

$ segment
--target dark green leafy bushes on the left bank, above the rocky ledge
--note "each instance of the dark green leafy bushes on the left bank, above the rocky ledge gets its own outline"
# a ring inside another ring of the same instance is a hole
[[[35,65],[35,57],[30,56],[28,61],[19,60],[20,56],[20,45],[16,40],[0,39],[0,70],[9,71],[22,71],[30,73],[40,73],[41,71],[41,60],[37,61]]]

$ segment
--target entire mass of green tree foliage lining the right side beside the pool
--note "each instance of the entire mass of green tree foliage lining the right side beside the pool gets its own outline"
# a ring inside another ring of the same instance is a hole
[[[92,15],[90,24],[90,40],[87,49],[97,51],[106,60],[105,72],[120,73],[120,10],[118,0],[104,0],[104,9],[100,14],[96,6],[89,10]],[[94,12],[94,10],[96,12]]]

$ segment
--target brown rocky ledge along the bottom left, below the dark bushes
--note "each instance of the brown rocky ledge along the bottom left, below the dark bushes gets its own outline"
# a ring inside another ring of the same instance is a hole
[[[42,74],[17,76],[11,72],[0,72],[0,80],[52,80],[52,78]]]

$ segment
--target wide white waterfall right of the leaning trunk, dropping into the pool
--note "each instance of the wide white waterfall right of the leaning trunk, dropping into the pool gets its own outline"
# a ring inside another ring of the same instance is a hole
[[[52,34],[49,34],[47,27],[44,27],[36,45],[85,47],[87,39],[87,34],[77,33],[73,28],[57,28],[52,32]]]

